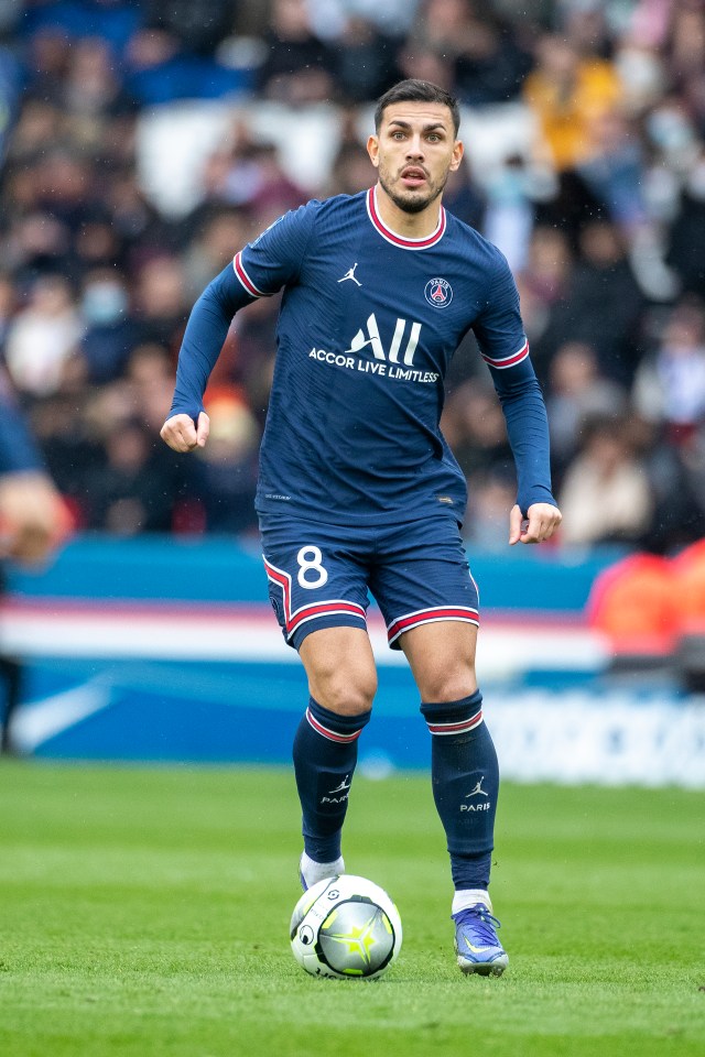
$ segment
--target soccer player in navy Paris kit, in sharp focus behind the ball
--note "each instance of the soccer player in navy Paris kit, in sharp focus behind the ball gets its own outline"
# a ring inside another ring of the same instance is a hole
[[[257,511],[270,600],[311,693],[293,748],[302,884],[345,869],[341,828],[377,689],[369,590],[431,732],[458,965],[499,976],[508,956],[488,894],[499,774],[475,675],[465,480],[438,427],[444,375],[470,329],[517,466],[509,544],[547,540],[561,514],[514,282],[502,254],[442,205],[463,159],[457,102],[404,80],[375,120],[376,186],[286,214],[196,302],[162,437],[176,451],[206,444],[203,393],[232,315],[283,286]]]

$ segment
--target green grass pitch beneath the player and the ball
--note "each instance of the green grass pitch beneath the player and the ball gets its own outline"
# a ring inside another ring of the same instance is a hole
[[[289,949],[289,772],[0,762],[3,1057],[705,1053],[704,797],[506,785],[509,971],[465,978],[429,780],[358,776],[348,867],[404,924],[381,981]]]

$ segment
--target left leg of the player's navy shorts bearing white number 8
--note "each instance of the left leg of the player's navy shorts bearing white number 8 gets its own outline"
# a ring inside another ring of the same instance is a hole
[[[367,629],[368,545],[365,532],[297,517],[260,524],[269,597],[289,645],[313,631]]]

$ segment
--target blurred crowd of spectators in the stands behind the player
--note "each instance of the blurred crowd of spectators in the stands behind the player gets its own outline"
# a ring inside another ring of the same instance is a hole
[[[490,171],[466,138],[445,201],[517,277],[557,545],[666,553],[705,535],[705,0],[3,0],[0,357],[80,527],[254,532],[276,298],[236,317],[210,442],[178,458],[159,429],[188,312],[279,214],[373,182],[359,116],[408,76],[531,130]],[[184,99],[237,108],[174,216],[145,186],[139,130]],[[267,100],[292,139],[307,108],[334,108],[319,187],[237,118]],[[442,425],[468,542],[502,548],[512,460],[469,338]]]

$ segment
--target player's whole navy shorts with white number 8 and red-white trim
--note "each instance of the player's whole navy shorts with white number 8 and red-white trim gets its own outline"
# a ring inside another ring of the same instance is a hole
[[[449,513],[355,528],[278,514],[262,517],[260,531],[269,597],[296,650],[319,628],[366,628],[369,595],[393,650],[420,624],[479,622],[477,585]]]

